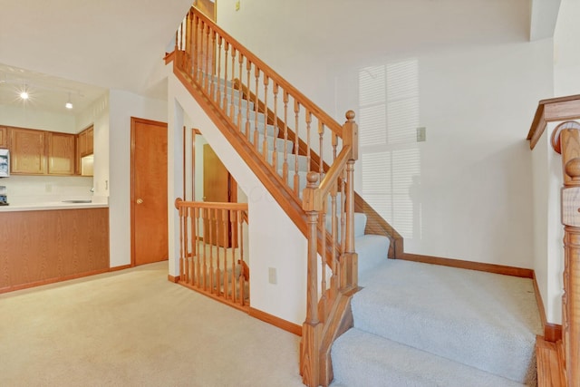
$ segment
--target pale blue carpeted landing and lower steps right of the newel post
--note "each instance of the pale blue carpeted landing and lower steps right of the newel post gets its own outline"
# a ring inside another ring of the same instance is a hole
[[[353,328],[333,344],[333,386],[536,385],[543,327],[530,279],[364,259],[374,266],[360,273]]]

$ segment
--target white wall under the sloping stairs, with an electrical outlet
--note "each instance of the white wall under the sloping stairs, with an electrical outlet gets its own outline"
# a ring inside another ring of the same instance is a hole
[[[302,324],[306,310],[306,239],[174,76],[169,76],[169,107],[175,109],[175,112],[169,113],[169,127],[174,129],[175,135],[181,131],[184,121],[182,115],[186,111],[192,125],[203,132],[204,139],[216,151],[239,188],[247,193],[250,218],[247,248],[252,276],[252,307],[291,323]],[[180,151],[179,146],[176,146],[173,153]],[[175,162],[177,169],[179,161],[175,154],[169,154],[169,160]],[[172,195],[175,198],[175,194],[180,192],[180,179],[176,173],[174,181],[169,181],[169,198]],[[177,218],[176,211],[170,211],[170,229],[179,225]],[[268,267],[274,267],[277,271],[276,285],[268,283]],[[169,274],[179,274],[179,236],[169,239]]]

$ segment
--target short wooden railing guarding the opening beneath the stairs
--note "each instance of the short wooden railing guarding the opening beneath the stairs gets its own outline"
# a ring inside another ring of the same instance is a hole
[[[247,203],[175,200],[179,211],[179,284],[247,308]]]

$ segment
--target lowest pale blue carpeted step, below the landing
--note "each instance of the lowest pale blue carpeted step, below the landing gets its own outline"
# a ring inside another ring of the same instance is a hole
[[[332,357],[332,387],[523,385],[356,328],[334,342]]]

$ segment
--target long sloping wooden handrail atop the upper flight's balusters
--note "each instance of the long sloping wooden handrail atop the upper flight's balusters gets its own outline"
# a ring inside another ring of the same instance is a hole
[[[192,8],[192,10],[196,9],[195,7],[191,7],[191,8]],[[323,118],[324,122],[326,122],[326,125],[328,125],[328,128],[330,130],[332,130],[334,133],[336,133],[339,137],[343,137],[343,130],[342,130],[341,125],[337,121],[335,121],[330,115],[328,115],[325,111],[323,111],[320,107],[318,107],[314,102],[312,102],[310,99],[308,99],[302,92],[300,92],[298,89],[296,89],[290,82],[287,82],[281,75],[276,73],[270,66],[268,66],[266,63],[264,63],[254,53],[247,50],[247,48],[243,44],[240,44],[239,42],[237,42],[237,40],[234,37],[232,37],[230,34],[227,34],[227,32],[224,31],[223,29],[221,29],[218,26],[218,24],[214,24],[208,18],[208,16],[203,15],[203,13],[201,13],[201,12],[196,12],[196,15],[198,15],[198,17],[201,20],[203,20],[204,22],[206,22],[208,24],[212,24],[214,30],[216,32],[218,32],[225,40],[227,40],[227,42],[229,44],[236,47],[236,50],[238,52],[243,53],[243,55],[247,59],[249,59],[251,63],[255,63],[260,68],[260,70],[266,72],[268,74],[268,77],[270,79],[274,80],[279,86],[284,88],[284,90],[286,92],[289,92],[293,96],[295,96],[295,98],[300,101],[300,103],[304,106],[304,108],[306,108],[309,111],[312,111],[318,117]]]

